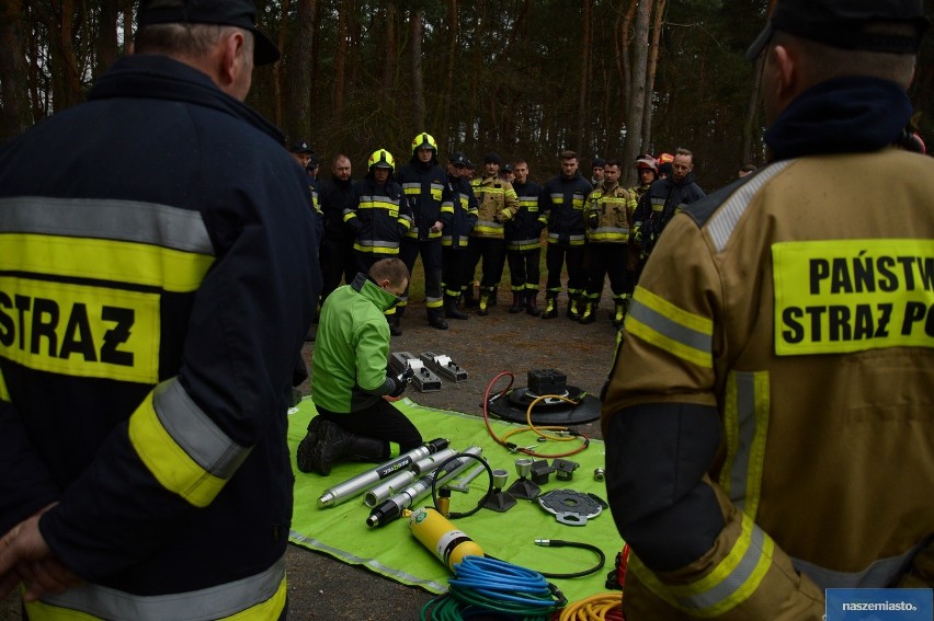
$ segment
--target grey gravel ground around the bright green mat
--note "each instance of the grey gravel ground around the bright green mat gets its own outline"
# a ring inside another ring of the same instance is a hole
[[[512,296],[500,291],[498,304],[487,317],[470,311],[467,321],[448,320],[449,330],[428,325],[423,302],[413,302],[402,320],[403,334],[392,337],[392,352],[444,354],[463,367],[466,382],[443,381],[442,390],[407,395],[421,405],[481,415],[480,404],[489,382],[500,372],[515,376],[514,387],[526,386],[526,373],[533,369],[557,369],[568,376],[568,383],[599,394],[612,364],[616,331],[610,322],[612,304],[603,300],[595,323],[580,325],[561,314],[542,320],[525,313],[508,312]],[[542,307],[544,303],[539,300]],[[305,344],[310,363],[314,342]],[[505,387],[497,382],[496,389]],[[310,387],[301,387],[307,394]],[[597,423],[578,427],[600,438]],[[421,607],[433,596],[378,576],[367,570],[334,561],[289,545],[286,556],[289,576],[289,620],[415,620]],[[0,602],[0,620],[19,620],[16,597]]]

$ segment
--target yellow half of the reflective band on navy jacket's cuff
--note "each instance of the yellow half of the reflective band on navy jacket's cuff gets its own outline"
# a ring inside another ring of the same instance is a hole
[[[129,417],[129,441],[159,483],[195,507],[206,507],[226,480],[210,474],[180,447],[159,422],[152,392]]]

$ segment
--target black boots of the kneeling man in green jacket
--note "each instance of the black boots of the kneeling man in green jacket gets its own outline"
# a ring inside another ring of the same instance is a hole
[[[361,461],[379,461],[386,457],[386,442],[345,432],[337,423],[316,416],[308,425],[308,434],[298,444],[296,461],[301,472],[317,472],[327,476],[334,462],[344,458]]]

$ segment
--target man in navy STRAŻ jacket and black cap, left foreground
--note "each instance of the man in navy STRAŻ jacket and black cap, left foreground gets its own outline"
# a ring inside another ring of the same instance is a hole
[[[144,3],[137,55],[0,149],[0,532],[21,522],[0,591],[36,532],[37,562],[82,580],[31,619],[285,610],[319,240],[305,171],[241,103],[243,55],[277,57],[252,2],[187,9]],[[214,44],[226,72],[159,39],[202,22],[238,26]]]

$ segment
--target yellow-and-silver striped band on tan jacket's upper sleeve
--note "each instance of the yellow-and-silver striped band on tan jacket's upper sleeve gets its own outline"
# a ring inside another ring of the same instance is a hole
[[[636,287],[626,332],[698,367],[714,367],[714,322]]]

